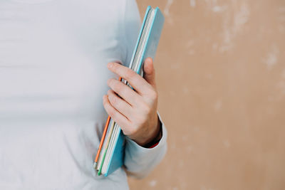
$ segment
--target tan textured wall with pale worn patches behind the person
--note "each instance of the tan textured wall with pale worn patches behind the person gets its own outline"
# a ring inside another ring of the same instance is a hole
[[[140,0],[165,28],[155,58],[167,156],[130,189],[285,189],[285,1]]]

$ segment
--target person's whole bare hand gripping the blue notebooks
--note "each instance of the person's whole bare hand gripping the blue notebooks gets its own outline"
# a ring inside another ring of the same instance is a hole
[[[107,66],[110,71],[127,80],[134,90],[120,80],[110,78],[108,86],[111,90],[103,96],[106,112],[130,139],[141,146],[151,142],[160,132],[152,58],[145,59],[144,78],[119,63],[108,63]]]

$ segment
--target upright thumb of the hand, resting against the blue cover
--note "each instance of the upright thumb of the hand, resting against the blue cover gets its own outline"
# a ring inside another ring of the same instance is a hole
[[[143,63],[143,78],[155,88],[155,68],[152,58],[148,57]]]

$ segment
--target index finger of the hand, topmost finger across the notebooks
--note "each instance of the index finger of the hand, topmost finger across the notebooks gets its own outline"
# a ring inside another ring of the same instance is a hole
[[[126,68],[118,63],[108,63],[108,68],[113,73],[119,75],[130,83],[130,85],[140,94],[147,95],[152,90],[152,86],[140,75],[130,68]]]

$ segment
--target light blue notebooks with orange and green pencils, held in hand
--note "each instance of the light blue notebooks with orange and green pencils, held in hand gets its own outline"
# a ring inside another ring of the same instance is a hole
[[[145,18],[142,21],[138,41],[133,51],[133,57],[130,60],[132,70],[143,76],[142,65],[145,58],[155,58],[155,52],[163,23],[165,21],[160,9],[157,7],[153,9],[147,6]],[[120,78],[126,85],[130,86],[128,81]],[[130,86],[130,88],[132,88]],[[125,156],[125,135],[120,130],[120,126],[115,121],[108,117],[103,131],[103,136],[100,140],[97,155],[95,157],[93,167],[98,171],[98,175],[103,174],[108,176],[116,169],[122,167]]]

